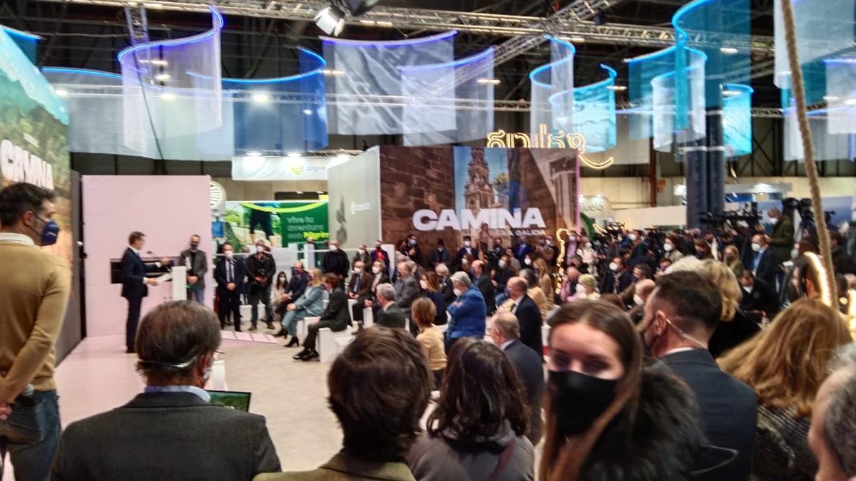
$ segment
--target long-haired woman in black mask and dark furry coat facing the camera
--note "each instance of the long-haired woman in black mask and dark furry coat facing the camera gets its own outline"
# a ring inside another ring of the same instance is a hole
[[[566,304],[549,353],[541,479],[691,478],[704,446],[698,407],[668,369],[643,365],[627,314],[601,300]]]

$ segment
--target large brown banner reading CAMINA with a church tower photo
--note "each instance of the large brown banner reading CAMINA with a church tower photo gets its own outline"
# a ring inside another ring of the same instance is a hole
[[[573,150],[382,147],[380,165],[384,241],[413,233],[426,252],[580,227]]]

